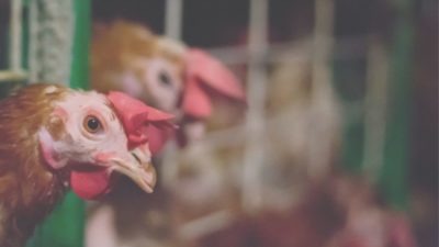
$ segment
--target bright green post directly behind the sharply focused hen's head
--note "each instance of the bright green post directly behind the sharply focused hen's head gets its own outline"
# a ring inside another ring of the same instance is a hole
[[[75,41],[70,86],[88,88],[89,42],[91,32],[90,0],[74,0]],[[27,247],[81,247],[83,246],[85,202],[69,192],[65,200],[41,225]]]

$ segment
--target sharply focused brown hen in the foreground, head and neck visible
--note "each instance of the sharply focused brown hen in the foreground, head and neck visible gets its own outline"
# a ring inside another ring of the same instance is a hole
[[[22,246],[71,188],[101,199],[131,178],[153,192],[149,135],[172,116],[122,92],[104,96],[33,85],[0,102],[0,246]]]

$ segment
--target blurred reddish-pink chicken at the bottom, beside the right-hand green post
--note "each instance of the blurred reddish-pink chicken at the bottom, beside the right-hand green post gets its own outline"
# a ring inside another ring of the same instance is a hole
[[[345,212],[345,224],[328,247],[416,247],[408,218],[392,211],[362,178],[331,181],[333,197]]]

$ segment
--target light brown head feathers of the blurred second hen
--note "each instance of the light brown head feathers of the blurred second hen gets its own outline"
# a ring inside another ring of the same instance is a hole
[[[162,42],[160,36],[153,34],[148,29],[140,24],[126,21],[115,21],[109,25],[95,25],[93,29],[91,43],[90,66],[91,86],[100,92],[112,90],[124,91],[121,83],[121,76],[124,72],[132,72],[138,81],[144,81],[143,76],[147,70],[140,59],[161,57],[176,64],[183,76],[182,54],[172,48],[172,44]],[[145,87],[145,83],[140,83]],[[142,100],[149,105],[156,106],[157,103],[148,96],[148,90]]]

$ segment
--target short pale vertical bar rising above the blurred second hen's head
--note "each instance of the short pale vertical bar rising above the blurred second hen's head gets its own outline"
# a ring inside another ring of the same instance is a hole
[[[167,0],[165,10],[165,33],[171,38],[181,38],[183,0]]]

